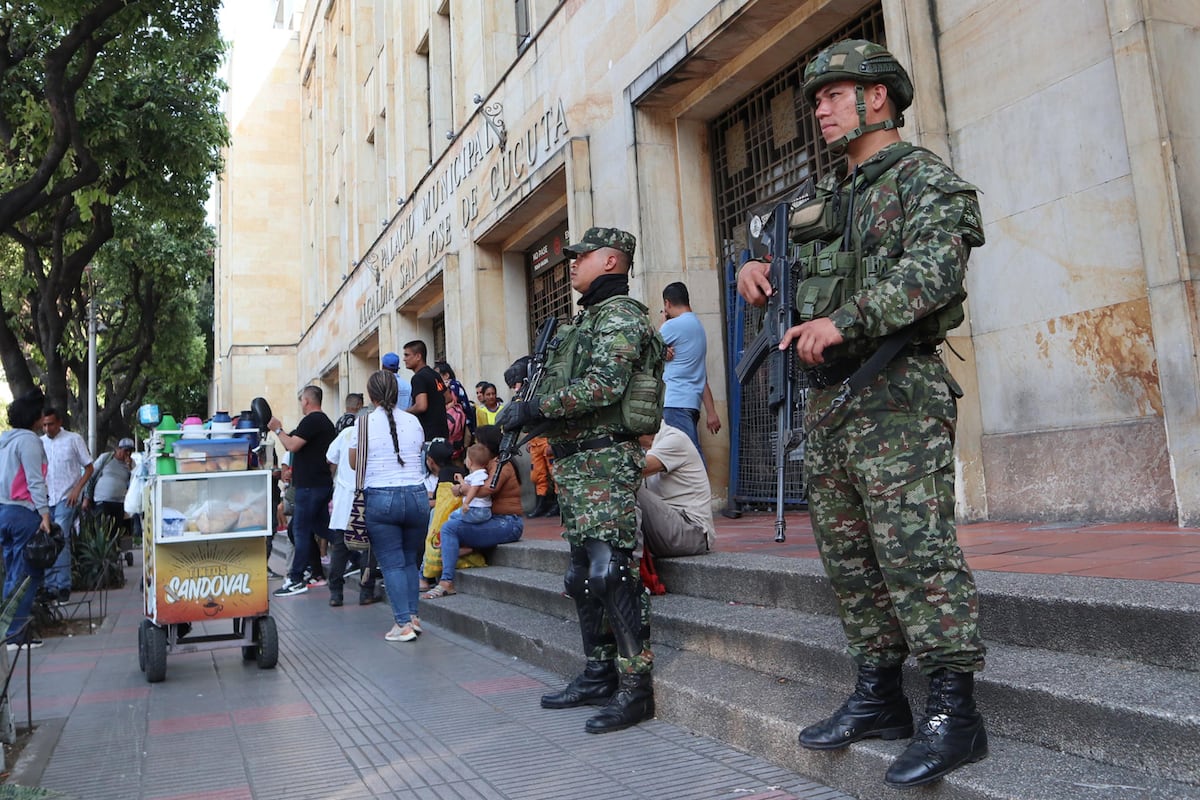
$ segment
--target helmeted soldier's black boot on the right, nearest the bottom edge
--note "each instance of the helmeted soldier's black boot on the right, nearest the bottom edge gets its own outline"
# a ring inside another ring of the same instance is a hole
[[[922,786],[986,757],[988,732],[974,705],[974,673],[940,669],[929,680],[925,718],[883,780],[901,789]]]

